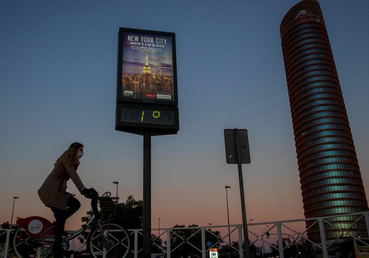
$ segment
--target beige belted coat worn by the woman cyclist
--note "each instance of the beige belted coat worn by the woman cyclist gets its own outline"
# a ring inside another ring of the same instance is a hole
[[[69,161],[66,160],[66,158],[63,158],[62,164],[54,167],[45,179],[44,184],[42,184],[40,189],[38,189],[38,196],[41,201],[46,206],[66,210],[67,198],[65,189],[67,188],[67,181],[69,178],[72,178],[77,189],[80,190],[84,187],[73,165],[70,165]]]

